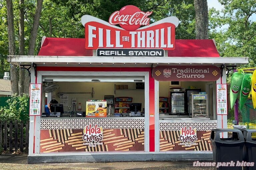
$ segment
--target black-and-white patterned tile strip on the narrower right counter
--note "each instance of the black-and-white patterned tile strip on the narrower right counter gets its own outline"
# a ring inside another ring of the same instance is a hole
[[[159,130],[180,130],[185,126],[197,130],[212,130],[217,128],[217,122],[160,122]]]

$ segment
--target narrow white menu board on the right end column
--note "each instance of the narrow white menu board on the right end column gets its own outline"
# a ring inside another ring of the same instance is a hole
[[[227,84],[217,85],[217,115],[227,115]]]

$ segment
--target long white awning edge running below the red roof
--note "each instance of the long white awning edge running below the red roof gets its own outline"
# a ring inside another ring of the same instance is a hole
[[[247,64],[247,57],[96,57],[96,56],[8,56],[15,65],[222,65]]]

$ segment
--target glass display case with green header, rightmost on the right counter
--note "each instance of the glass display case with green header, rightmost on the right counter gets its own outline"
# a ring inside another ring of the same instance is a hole
[[[207,94],[192,94],[192,118],[209,118]]]

